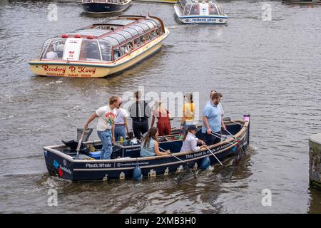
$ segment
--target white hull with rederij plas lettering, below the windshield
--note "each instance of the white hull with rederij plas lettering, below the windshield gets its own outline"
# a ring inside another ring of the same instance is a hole
[[[178,20],[183,24],[226,24],[228,23],[228,16],[218,15],[195,15],[195,16],[182,16],[183,9],[180,5],[174,6]]]

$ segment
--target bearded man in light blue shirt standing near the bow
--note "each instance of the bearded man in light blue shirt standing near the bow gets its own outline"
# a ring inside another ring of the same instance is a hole
[[[202,133],[205,134],[206,145],[213,145],[220,142],[220,138],[212,135],[212,133],[220,134],[222,128],[222,110],[218,105],[220,98],[222,98],[222,94],[213,93],[210,102],[206,103],[203,108]]]

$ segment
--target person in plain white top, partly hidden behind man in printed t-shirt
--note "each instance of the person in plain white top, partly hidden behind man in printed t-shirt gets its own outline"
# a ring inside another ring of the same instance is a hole
[[[121,137],[123,140],[126,139],[126,132],[129,132],[128,128],[128,113],[126,109],[121,108],[122,100],[116,108],[116,119],[115,119],[115,140],[119,141]]]

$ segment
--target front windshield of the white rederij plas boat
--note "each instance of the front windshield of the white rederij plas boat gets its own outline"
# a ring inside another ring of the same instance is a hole
[[[193,16],[193,15],[218,15],[225,16],[223,6],[215,4],[212,1],[208,2],[198,2],[185,4],[183,10],[184,16]]]

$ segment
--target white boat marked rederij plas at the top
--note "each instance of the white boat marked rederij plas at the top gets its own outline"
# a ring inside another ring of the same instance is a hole
[[[226,24],[228,16],[215,1],[179,0],[175,13],[184,24]]]

